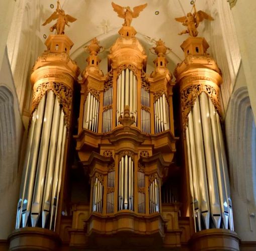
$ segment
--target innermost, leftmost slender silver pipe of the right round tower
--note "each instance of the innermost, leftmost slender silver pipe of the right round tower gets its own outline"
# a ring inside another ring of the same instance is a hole
[[[194,135],[194,125],[193,125],[193,115],[192,112],[189,113],[189,142],[191,150],[191,163],[192,163],[192,173],[193,173],[193,186],[194,186],[194,206],[195,206],[195,219],[197,219],[197,226],[199,231],[201,227],[201,201],[199,192],[199,178],[198,178],[198,164],[197,155],[195,150],[195,135]]]

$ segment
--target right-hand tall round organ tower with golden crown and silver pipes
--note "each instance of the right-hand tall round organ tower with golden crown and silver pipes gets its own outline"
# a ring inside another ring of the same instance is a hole
[[[202,37],[186,39],[181,45],[185,60],[178,64],[174,73],[180,88],[186,168],[197,232],[191,243],[195,250],[201,250],[207,238],[216,237],[216,242],[211,243],[212,248],[239,250],[236,233],[233,232],[221,125],[219,95],[222,76],[216,62],[207,53],[208,47]],[[219,246],[217,239],[223,236],[227,237],[227,242],[221,242]]]

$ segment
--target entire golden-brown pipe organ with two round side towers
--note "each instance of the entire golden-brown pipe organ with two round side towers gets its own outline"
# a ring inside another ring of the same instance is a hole
[[[239,249],[221,128],[221,71],[205,39],[189,37],[181,46],[186,58],[175,70],[177,83],[167,68],[170,49],[160,39],[150,49],[154,70],[146,74],[147,56],[129,17],[110,48],[107,74],[96,38],[85,48],[80,80],[69,38],[46,40],[31,76],[10,250],[62,250],[59,237],[65,250],[121,250],[126,238],[134,250],[206,250],[205,243],[211,250]],[[173,101],[177,92],[180,105]],[[80,94],[79,105],[74,94]],[[173,102],[180,108],[176,122]]]

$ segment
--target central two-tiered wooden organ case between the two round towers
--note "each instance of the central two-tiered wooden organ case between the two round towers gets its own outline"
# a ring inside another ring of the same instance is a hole
[[[90,175],[89,213],[84,220],[91,238],[101,237],[98,248],[109,242],[122,248],[120,238],[136,234],[136,243],[163,244],[164,219],[161,214],[161,185],[169,175],[176,152],[174,137],[172,75],[166,68],[167,47],[159,40],[153,53],[155,69],[146,75],[147,56],[131,26],[119,30],[119,38],[108,55],[108,73],[99,69],[101,46],[93,39],[82,73],[80,112],[76,150]],[[74,210],[74,222],[79,212]],[[169,243],[177,246],[179,205],[173,212],[176,229]],[[77,245],[77,224],[70,230],[70,245]],[[79,230],[82,233],[84,229]],[[107,242],[105,242],[107,241]],[[89,245],[82,239],[80,244]],[[94,247],[96,247],[94,245]]]

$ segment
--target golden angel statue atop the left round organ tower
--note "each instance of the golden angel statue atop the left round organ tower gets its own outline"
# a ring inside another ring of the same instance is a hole
[[[42,25],[45,26],[56,19],[58,19],[57,23],[50,28],[50,31],[53,32],[56,30],[58,35],[64,34],[65,25],[69,26],[68,22],[73,23],[76,21],[76,18],[66,15],[65,12],[60,8],[59,0],[57,1],[56,11]]]

